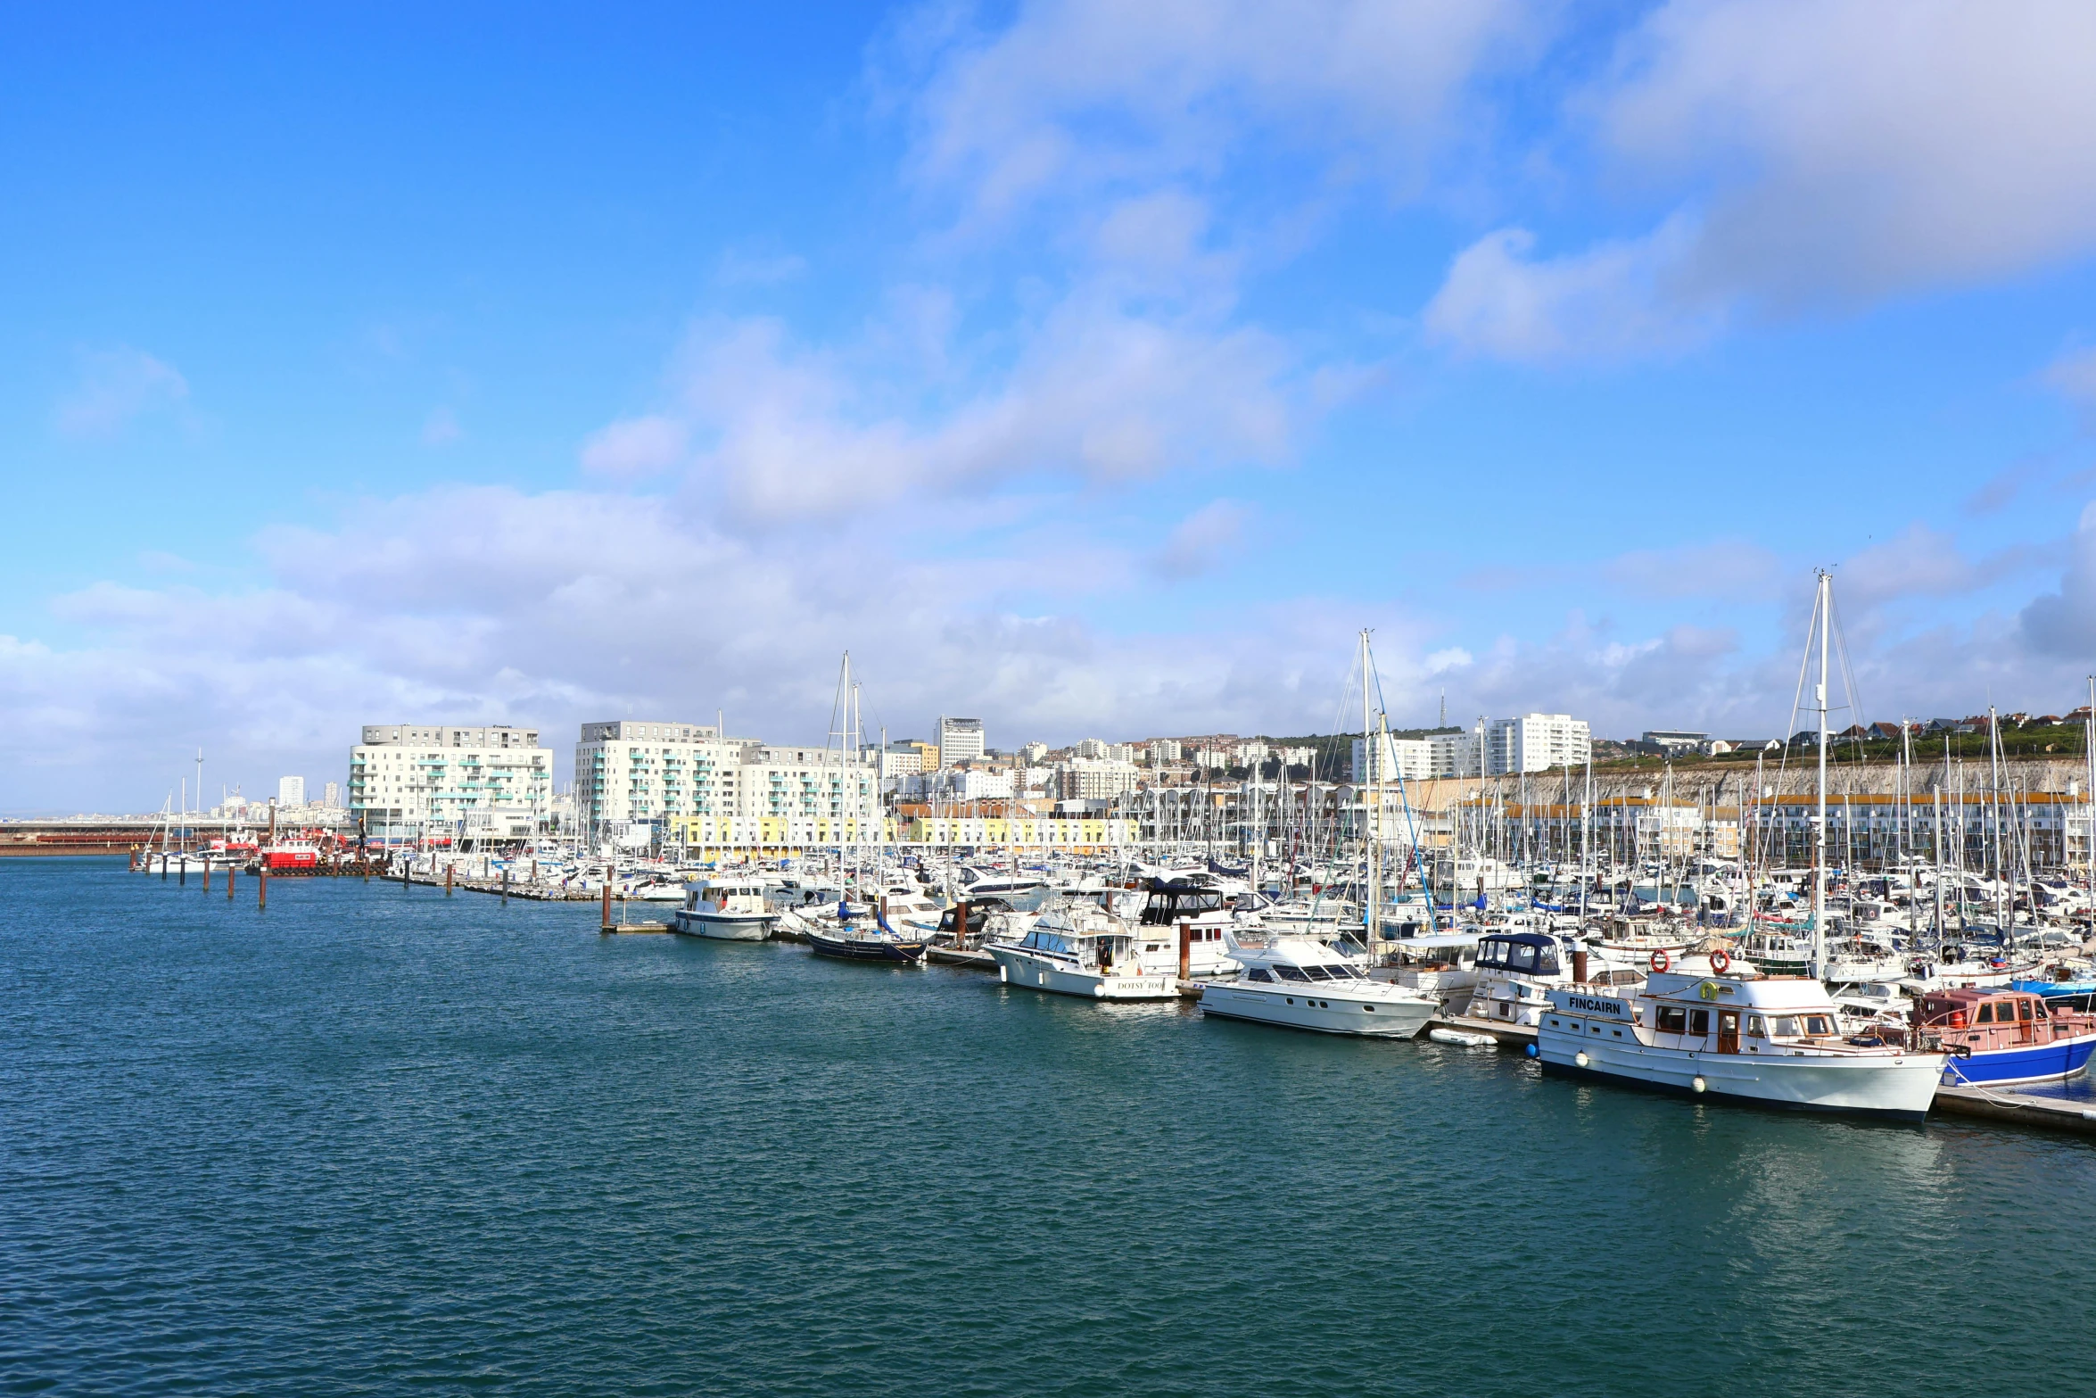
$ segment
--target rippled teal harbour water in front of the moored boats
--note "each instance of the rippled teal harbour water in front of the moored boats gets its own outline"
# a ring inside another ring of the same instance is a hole
[[[2090,1392],[2096,1149],[0,861],[0,1383]]]

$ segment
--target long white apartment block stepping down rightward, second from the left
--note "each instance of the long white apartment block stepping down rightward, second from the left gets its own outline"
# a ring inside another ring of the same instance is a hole
[[[878,757],[721,738],[711,723],[585,723],[574,746],[574,813],[585,832],[687,815],[870,822]]]

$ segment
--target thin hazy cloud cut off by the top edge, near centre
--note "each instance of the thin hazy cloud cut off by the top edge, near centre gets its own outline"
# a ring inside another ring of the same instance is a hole
[[[1102,184],[1214,174],[1256,130],[1411,184],[1461,138],[1465,86],[1526,46],[1518,0],[1035,0],[985,36],[922,17],[916,172],[977,218]],[[908,44],[905,44],[908,46]],[[922,52],[929,50],[929,52]]]

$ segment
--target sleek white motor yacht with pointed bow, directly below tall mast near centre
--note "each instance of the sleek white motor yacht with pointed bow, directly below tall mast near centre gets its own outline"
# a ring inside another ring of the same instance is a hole
[[[1371,981],[1352,960],[1314,937],[1230,943],[1245,966],[1235,981],[1201,987],[1201,1010],[1262,1025],[1409,1040],[1427,1027],[1440,1000],[1394,981]]]

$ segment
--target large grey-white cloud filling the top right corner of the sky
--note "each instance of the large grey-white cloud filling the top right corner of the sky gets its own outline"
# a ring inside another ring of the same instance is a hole
[[[2096,6],[1675,0],[1595,94],[1626,172],[1704,203],[1704,296],[1844,302],[2096,247]]]

